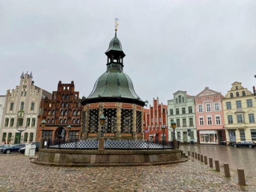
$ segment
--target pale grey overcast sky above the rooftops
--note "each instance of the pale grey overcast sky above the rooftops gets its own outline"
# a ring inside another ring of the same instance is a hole
[[[88,97],[106,71],[114,37],[137,95],[167,104],[178,90],[205,87],[224,96],[234,81],[256,85],[256,1],[4,1],[0,0],[0,95],[22,72],[57,91],[70,83]]]

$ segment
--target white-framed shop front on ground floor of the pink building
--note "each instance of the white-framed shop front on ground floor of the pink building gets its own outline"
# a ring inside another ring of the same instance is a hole
[[[211,143],[211,144],[219,144],[219,135],[216,130],[202,130],[199,131],[200,143]]]

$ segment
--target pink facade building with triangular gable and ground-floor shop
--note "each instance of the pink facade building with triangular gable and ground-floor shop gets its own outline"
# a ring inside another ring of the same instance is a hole
[[[206,87],[195,96],[198,143],[222,144],[226,141],[220,92]]]

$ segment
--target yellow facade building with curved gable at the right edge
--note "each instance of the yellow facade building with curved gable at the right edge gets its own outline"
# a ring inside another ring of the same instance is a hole
[[[223,99],[226,141],[256,141],[256,96],[241,82],[233,82]]]

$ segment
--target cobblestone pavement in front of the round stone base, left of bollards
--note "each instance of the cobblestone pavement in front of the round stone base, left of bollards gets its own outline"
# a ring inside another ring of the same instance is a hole
[[[138,167],[49,167],[0,154],[0,191],[256,191],[199,161]]]

